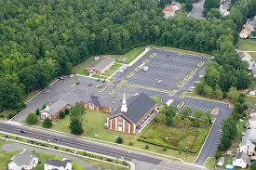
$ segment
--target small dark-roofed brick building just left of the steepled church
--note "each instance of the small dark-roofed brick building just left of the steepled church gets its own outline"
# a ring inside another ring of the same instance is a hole
[[[102,98],[92,95],[90,100],[85,103],[85,108],[93,111],[113,112],[115,108],[102,105]]]

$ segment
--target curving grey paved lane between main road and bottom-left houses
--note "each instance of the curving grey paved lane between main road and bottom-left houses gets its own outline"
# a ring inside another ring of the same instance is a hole
[[[55,155],[55,156],[61,156],[62,158],[67,158],[71,161],[74,161],[75,163],[79,163],[80,165],[82,165],[87,170],[95,169],[89,163],[86,163],[86,162],[82,161],[81,159],[79,159],[75,156],[65,154],[65,153],[61,153],[61,152],[58,152],[58,151],[46,150],[46,149],[36,148],[36,147],[33,147],[33,146],[29,146],[29,145],[23,145],[23,144],[20,144],[20,143],[14,143],[14,142],[7,143],[7,144],[5,144],[1,147],[1,150],[7,151],[7,152],[11,152],[11,151],[14,151],[14,150],[35,150],[35,151],[38,151],[38,152],[44,152],[44,153],[49,154],[49,155]]]

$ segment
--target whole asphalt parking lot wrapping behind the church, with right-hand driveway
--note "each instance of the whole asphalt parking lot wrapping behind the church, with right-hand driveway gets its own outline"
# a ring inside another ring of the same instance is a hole
[[[152,58],[152,54],[156,54]],[[166,59],[168,55],[168,59]],[[147,72],[136,70],[138,66],[145,60],[149,59]],[[199,75],[205,73],[206,64],[197,66],[200,61],[206,62],[207,58],[196,57],[193,55],[179,55],[179,53],[151,49],[134,65],[128,67],[124,73],[116,73],[113,76],[114,83],[102,82],[102,80],[89,78],[85,76],[71,76],[66,77],[64,80],[58,80],[53,85],[48,86],[38,96],[33,98],[27,103],[27,108],[20,111],[16,117],[12,119],[14,122],[23,123],[27,115],[41,108],[46,103],[54,102],[61,98],[68,98],[71,102],[79,102],[82,100],[89,101],[90,96],[96,95],[102,98],[102,105],[112,106],[118,108],[121,104],[124,91],[127,98],[144,92],[149,96],[162,98],[163,103],[168,99],[173,100],[173,104],[178,104],[184,101],[184,105],[192,108],[193,111],[212,111],[214,108],[219,108],[220,113],[216,118],[215,124],[209,133],[201,154],[195,163],[202,164],[206,161],[208,156],[213,156],[217,150],[222,134],[219,132],[222,121],[231,114],[231,108],[227,104],[221,102],[214,102],[199,98],[180,98],[182,92],[187,91],[189,86],[195,85],[195,81],[199,80]],[[182,87],[177,88],[178,82],[184,79],[186,75],[194,68],[198,71],[193,74],[189,81],[186,81]],[[134,72],[134,75],[128,77],[129,72]],[[161,79],[160,84],[157,80]],[[122,81],[127,81],[132,85],[119,84]],[[162,90],[161,90],[162,89]],[[170,95],[169,90],[176,89],[175,95]]]

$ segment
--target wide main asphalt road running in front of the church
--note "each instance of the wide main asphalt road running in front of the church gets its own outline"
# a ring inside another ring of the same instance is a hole
[[[20,133],[20,129],[26,133]],[[88,141],[86,139],[74,136],[65,136],[45,130],[39,130],[32,127],[25,127],[22,125],[0,123],[0,131],[11,133],[14,135],[20,135],[23,137],[31,137],[43,141],[49,139],[53,143],[57,141],[54,138],[59,138],[59,144],[67,147],[72,147],[78,150],[87,150],[103,155],[112,156],[115,158],[127,158],[128,161],[135,164],[136,170],[143,169],[175,169],[175,170],[203,170],[206,169],[202,166],[191,164],[191,163],[179,163],[170,161],[164,158],[156,157],[153,155],[144,154],[137,151],[128,151],[115,146],[102,144],[95,141]]]

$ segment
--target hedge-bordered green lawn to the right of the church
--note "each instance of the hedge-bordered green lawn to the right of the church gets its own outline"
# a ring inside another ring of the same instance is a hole
[[[141,141],[176,149],[197,152],[200,150],[209,128],[178,129],[168,126],[152,125],[139,137]]]

